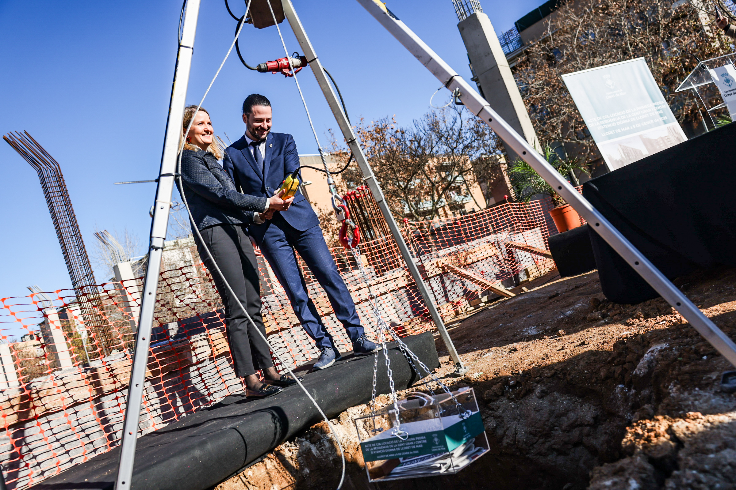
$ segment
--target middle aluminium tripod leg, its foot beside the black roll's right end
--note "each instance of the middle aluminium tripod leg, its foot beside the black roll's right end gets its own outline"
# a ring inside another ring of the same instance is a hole
[[[406,241],[401,234],[401,230],[396,223],[396,220],[394,220],[394,216],[391,214],[391,209],[389,209],[389,205],[386,203],[386,198],[383,196],[381,185],[378,184],[378,180],[376,180],[375,175],[373,175],[373,170],[368,163],[368,159],[355,137],[353,126],[350,126],[350,122],[348,122],[345,113],[342,111],[342,105],[333,91],[332,85],[328,82],[325,71],[322,68],[322,63],[319,62],[319,58],[317,58],[317,55],[314,52],[312,43],[304,30],[304,26],[302,26],[302,21],[299,20],[299,16],[294,10],[291,0],[281,0],[281,4],[283,5],[284,14],[289,20],[289,24],[291,24],[291,29],[294,31],[294,35],[296,35],[297,40],[302,47],[302,51],[304,51],[304,56],[307,58],[309,66],[312,68],[312,73],[314,73],[314,76],[317,79],[319,88],[322,89],[322,93],[325,95],[325,98],[330,105],[330,109],[337,120],[338,126],[340,126],[342,135],[345,138],[347,145],[350,147],[350,151],[353,151],[353,156],[355,156],[355,161],[358,162],[358,167],[360,167],[361,172],[363,173],[363,178],[368,185],[368,188],[373,193],[375,201],[378,203],[378,209],[381,209],[381,214],[389,225],[391,234],[396,240],[404,262],[406,262],[406,268],[409,270],[409,273],[411,273],[411,277],[414,278],[414,282],[417,284],[417,289],[419,289],[420,295],[422,295],[422,298],[427,305],[427,309],[431,314],[432,320],[434,320],[434,324],[437,325],[439,335],[442,336],[442,342],[445,342],[445,347],[447,347],[447,353],[450,354],[450,359],[452,359],[453,364],[455,364],[455,372],[458,375],[464,374],[467,372],[467,367],[462,364],[462,360],[453,344],[453,340],[450,338],[450,334],[447,333],[445,322],[442,321],[442,315],[437,311],[434,300],[432,300],[427,286],[422,279],[422,273],[420,272],[419,267],[417,267],[417,262],[414,262],[414,257],[411,256],[411,251],[409,250],[408,245],[406,245]]]

